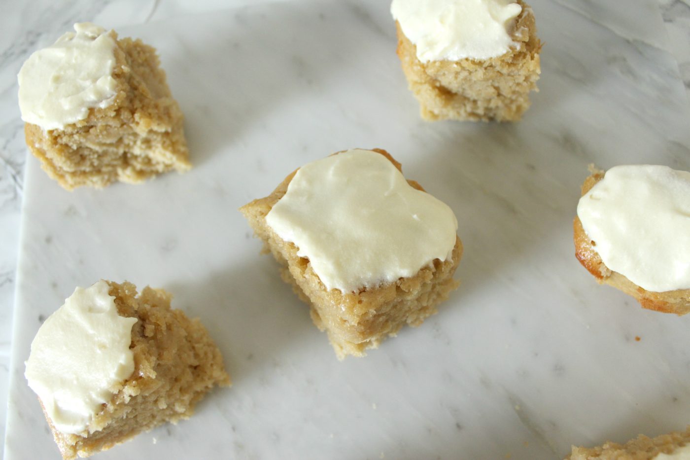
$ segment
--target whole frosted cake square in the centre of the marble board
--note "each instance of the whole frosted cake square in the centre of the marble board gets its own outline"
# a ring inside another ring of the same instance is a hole
[[[340,359],[422,324],[458,285],[453,211],[386,151],[307,164],[240,210]]]

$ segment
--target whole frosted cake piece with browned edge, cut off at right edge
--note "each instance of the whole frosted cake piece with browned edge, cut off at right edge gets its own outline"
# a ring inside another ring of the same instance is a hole
[[[642,307],[690,313],[690,172],[591,166],[573,222],[575,256]]]

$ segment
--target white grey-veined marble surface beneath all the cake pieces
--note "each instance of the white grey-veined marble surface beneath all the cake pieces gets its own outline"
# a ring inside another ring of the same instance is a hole
[[[690,6],[638,0],[621,15],[613,1],[532,3],[546,41],[541,93],[524,122],[500,126],[417,119],[383,3],[241,12],[221,1],[3,6],[0,398],[23,198],[14,367],[39,315],[75,285],[110,276],[170,289],[177,307],[209,325],[235,378],[192,420],[102,458],[175,457],[209,439],[206,454],[237,458],[546,459],[570,443],[682,428],[689,319],[642,311],[595,285],[569,236],[589,162],[689,169]],[[170,19],[188,12],[200,15],[188,30]],[[32,50],[82,20],[159,48],[187,116],[193,172],[70,194],[31,158],[24,181],[15,75]],[[221,90],[228,81],[237,87]],[[337,363],[235,209],[299,164],[351,146],[388,148],[448,202],[466,253],[462,287],[441,314],[364,360]],[[150,202],[160,203],[156,218]],[[113,224],[116,213],[126,219]],[[6,457],[57,458],[19,377],[10,404]]]

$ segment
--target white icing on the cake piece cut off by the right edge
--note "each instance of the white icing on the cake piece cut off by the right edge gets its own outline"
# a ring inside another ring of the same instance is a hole
[[[690,288],[690,172],[615,166],[578,217],[604,264],[647,291]]]

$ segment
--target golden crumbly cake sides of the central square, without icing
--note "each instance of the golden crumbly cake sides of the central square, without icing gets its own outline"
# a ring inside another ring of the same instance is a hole
[[[400,163],[388,152],[375,148],[395,167]],[[365,350],[377,348],[388,336],[395,336],[404,325],[418,326],[437,312],[436,306],[448,298],[460,284],[453,274],[462,256],[462,242],[455,239],[452,258],[441,262],[436,259],[414,276],[400,278],[375,288],[343,293],[326,289],[315,274],[308,258],[297,256],[298,248],[280,238],[268,224],[266,214],[285,195],[288,184],[297,171],[293,171],[266,198],[254,200],[240,208],[255,236],[264,241],[264,252],[270,251],[281,265],[281,278],[292,285],[293,291],[310,306],[311,318],[335,349],[338,359],[347,355],[365,356]],[[424,191],[412,180],[408,183]]]

